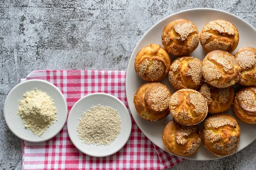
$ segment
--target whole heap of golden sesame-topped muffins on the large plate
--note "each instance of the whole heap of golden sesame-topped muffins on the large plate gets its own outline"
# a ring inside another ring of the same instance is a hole
[[[207,53],[203,61],[188,56],[199,41]],[[135,71],[148,83],[134,95],[134,105],[141,118],[158,121],[172,115],[162,139],[175,155],[196,153],[204,140],[205,147],[217,156],[234,153],[240,140],[237,120],[227,114],[233,104],[237,118],[256,124],[256,49],[243,47],[233,56],[239,42],[236,27],[226,20],[207,23],[201,34],[194,23],[178,19],[162,32],[161,45],[142,48],[134,62]],[[169,54],[178,56],[172,64]],[[169,74],[169,89],[158,82]],[[235,95],[232,85],[241,88]],[[207,113],[211,113],[207,119]],[[201,132],[198,125],[204,121]]]

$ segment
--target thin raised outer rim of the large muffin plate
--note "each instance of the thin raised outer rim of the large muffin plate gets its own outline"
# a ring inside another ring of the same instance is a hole
[[[247,23],[245,20],[243,20],[243,19],[241,19],[240,17],[236,16],[235,14],[231,14],[231,13],[229,13],[229,12],[227,12],[227,11],[222,11],[222,10],[220,10],[220,9],[214,9],[214,8],[192,8],[192,9],[186,9],[186,10],[183,10],[183,11],[179,11],[179,12],[176,12],[176,13],[174,13],[174,14],[170,14],[170,15],[168,15],[167,17],[164,17],[163,19],[159,20],[157,23],[155,23],[153,26],[151,26],[151,27],[143,34],[143,36],[140,38],[140,40],[139,40],[139,41],[137,42],[137,44],[135,45],[134,49],[137,48],[137,46],[138,46],[138,45],[140,44],[140,42],[143,40],[143,38],[145,37],[145,35],[146,35],[149,31],[151,31],[151,29],[153,29],[155,26],[157,26],[159,23],[161,23],[163,20],[166,20],[166,19],[168,19],[169,17],[172,17],[173,15],[181,14],[181,13],[184,13],[184,12],[188,12],[188,11],[201,11],[201,10],[218,11],[218,12],[224,13],[224,14],[226,14],[226,15],[230,15],[230,16],[235,17],[236,19],[238,19],[240,22],[246,23],[247,26],[249,26],[250,28],[253,28],[254,31],[256,31],[256,29],[255,29],[253,26],[251,26],[249,23]],[[133,50],[133,52],[131,53],[131,57],[130,57],[130,59],[129,59],[127,68],[126,68],[126,74],[128,73],[128,68],[129,68],[130,63],[131,63],[131,64],[134,63],[133,61],[131,61],[132,56],[134,56],[134,55],[135,55],[135,51]],[[128,91],[127,91],[127,88],[126,88],[127,85],[128,85],[128,82],[127,82],[127,78],[125,77],[125,94],[126,94],[126,96],[127,96],[127,94],[128,94]],[[130,103],[128,99],[127,99],[127,103],[128,103],[128,106],[129,106],[129,107],[130,107],[130,105],[133,105],[133,103]],[[231,106],[231,107],[232,107],[232,106]],[[133,116],[133,114],[131,114],[131,115]],[[135,119],[134,119],[134,121],[135,121],[135,123],[137,124],[137,121],[136,121]],[[138,124],[137,124],[137,126],[140,128],[141,125],[138,125]],[[141,130],[141,128],[140,128],[140,130]],[[148,135],[145,134],[143,130],[141,130],[141,131],[142,131],[143,134],[151,141],[150,137],[148,137]],[[255,139],[254,139],[253,141],[255,141],[255,140],[256,140],[256,137],[255,137]],[[252,142],[253,142],[253,141],[252,141]],[[152,141],[151,141],[151,142],[152,142]],[[250,142],[249,144],[247,144],[247,146],[249,146],[252,142]],[[155,144],[154,142],[152,142],[152,143]],[[157,144],[155,144],[155,145],[156,145],[157,147],[159,147]],[[247,147],[247,146],[242,147],[241,150],[243,150],[243,149],[244,149],[245,147]],[[160,148],[160,147],[159,147],[159,148]],[[161,149],[161,148],[160,148],[160,149]],[[239,151],[241,151],[241,150],[239,150]],[[164,150],[164,151],[165,151],[165,150]],[[234,153],[237,153],[237,152],[239,152],[239,151],[236,151],[236,152],[234,152]],[[169,154],[172,154],[172,155],[175,155],[175,154],[170,153],[170,152],[168,152],[168,153],[169,153]],[[234,153],[232,153],[231,155],[233,155]],[[178,156],[178,155],[175,155],[175,156]],[[227,155],[227,156],[230,156],[230,155]],[[222,159],[222,158],[227,157],[227,156],[216,157],[215,159],[192,159],[192,158],[188,158],[188,157],[186,157],[186,156],[178,156],[178,157],[183,158],[183,159],[190,159],[190,160],[209,161],[209,160]]]

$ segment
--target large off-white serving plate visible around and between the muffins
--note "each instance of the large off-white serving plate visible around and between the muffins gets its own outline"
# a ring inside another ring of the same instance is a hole
[[[167,150],[163,145],[161,135],[164,128],[164,124],[168,122],[170,119],[172,119],[172,116],[169,115],[165,119],[157,122],[149,122],[140,118],[140,116],[138,115],[134,107],[133,97],[137,89],[140,87],[140,85],[143,85],[146,82],[143,79],[141,79],[139,76],[137,76],[134,70],[134,59],[141,48],[147,45],[150,45],[151,43],[160,44],[163,47],[161,42],[161,34],[163,31],[163,28],[168,23],[180,18],[187,19],[195,23],[199,33],[201,32],[204,25],[207,24],[209,21],[216,20],[216,19],[228,20],[231,23],[233,23],[239,31],[239,44],[236,50],[232,54],[234,54],[241,47],[251,46],[256,48],[256,38],[255,38],[256,30],[252,26],[250,26],[250,24],[248,24],[241,18],[236,17],[233,14],[216,10],[216,9],[208,9],[208,8],[189,9],[186,11],[180,11],[175,14],[172,14],[169,17],[166,17],[163,20],[160,20],[143,35],[143,37],[140,39],[140,41],[134,48],[134,51],[131,54],[131,58],[128,64],[127,74],[126,74],[126,96],[127,96],[129,108],[131,109],[131,114],[135,122],[137,123],[137,125],[143,131],[145,136],[148,137],[148,139],[150,139],[154,144],[156,144],[158,147],[160,147],[165,151]],[[190,55],[200,59],[201,61],[204,59],[206,53],[204,52],[200,42],[199,42],[198,48]],[[174,56],[170,56],[170,57],[171,57],[171,61],[173,62],[175,60],[175,57]],[[165,84],[170,89],[172,94],[175,92],[175,89],[172,88],[172,86],[168,81],[168,76],[166,76],[160,82]],[[239,89],[239,85],[235,85],[234,88],[235,90]],[[234,116],[231,109],[227,111],[227,113],[230,113],[231,115]],[[239,147],[236,152],[243,149],[244,147],[246,147],[256,139],[256,130],[255,130],[256,125],[247,125],[241,121],[238,121],[238,122],[239,122],[239,126],[241,127],[241,138],[240,138]],[[199,125],[201,129],[202,129],[202,125],[203,123]],[[195,153],[192,156],[186,156],[183,158],[194,159],[194,160],[212,160],[212,159],[218,159],[220,157],[217,157],[214,154],[210,153],[202,143],[197,153]]]

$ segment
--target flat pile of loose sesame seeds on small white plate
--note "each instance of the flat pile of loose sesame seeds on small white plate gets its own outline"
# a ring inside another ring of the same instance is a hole
[[[92,106],[82,113],[77,125],[79,139],[85,144],[109,145],[121,132],[121,119],[116,109]]]

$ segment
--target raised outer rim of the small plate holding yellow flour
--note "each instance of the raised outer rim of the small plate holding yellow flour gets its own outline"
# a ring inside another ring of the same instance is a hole
[[[64,101],[64,104],[65,104],[65,113],[64,113],[64,114],[65,114],[65,116],[66,116],[66,120],[65,120],[64,123],[61,124],[60,130],[57,130],[55,133],[53,133],[52,135],[50,135],[50,136],[49,136],[48,138],[46,138],[46,139],[37,140],[37,141],[28,140],[28,139],[26,139],[26,137],[24,138],[24,137],[20,136],[20,134],[15,133],[15,132],[13,131],[13,129],[10,128],[10,124],[9,124],[9,123],[11,123],[11,122],[8,122],[8,121],[6,120],[6,114],[7,114],[6,101],[9,99],[11,93],[12,93],[16,88],[18,88],[19,86],[22,86],[23,84],[30,83],[30,82],[42,82],[42,83],[45,83],[45,84],[47,84],[47,85],[50,85],[52,88],[55,88],[55,90],[58,91],[58,94],[61,95],[61,99]],[[20,139],[22,139],[22,140],[24,140],[24,141],[27,141],[27,142],[32,142],[32,143],[45,142],[45,141],[47,141],[47,140],[49,140],[49,139],[52,139],[54,136],[56,136],[56,135],[63,129],[63,127],[64,127],[64,125],[65,125],[65,123],[66,123],[66,121],[67,121],[67,101],[66,101],[64,95],[62,94],[62,92],[61,92],[54,84],[52,84],[52,83],[50,83],[50,82],[47,82],[47,81],[45,81],[45,80],[42,80],[42,79],[29,79],[29,80],[25,80],[25,81],[23,81],[23,82],[18,83],[18,84],[15,85],[15,86],[12,88],[12,90],[8,93],[8,95],[6,96],[5,102],[4,102],[3,115],[4,115],[4,119],[5,119],[5,122],[6,122],[7,127],[8,127],[9,130],[11,130],[11,132],[12,132],[15,136],[17,136],[18,138],[20,138]]]

